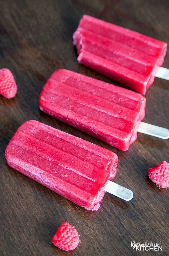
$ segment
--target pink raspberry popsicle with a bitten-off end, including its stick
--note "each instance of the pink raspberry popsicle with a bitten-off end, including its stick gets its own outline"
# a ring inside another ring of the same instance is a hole
[[[162,41],[83,15],[73,43],[80,63],[143,95],[155,76],[169,80],[169,71],[159,68],[167,48]]]

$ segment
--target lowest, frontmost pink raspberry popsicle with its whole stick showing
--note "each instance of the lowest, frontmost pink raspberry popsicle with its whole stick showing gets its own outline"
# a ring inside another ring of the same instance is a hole
[[[5,157],[10,167],[88,210],[98,210],[106,190],[125,200],[133,197],[110,181],[116,175],[115,153],[38,121],[18,128]]]

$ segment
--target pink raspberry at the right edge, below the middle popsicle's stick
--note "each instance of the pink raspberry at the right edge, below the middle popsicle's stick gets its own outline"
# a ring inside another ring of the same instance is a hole
[[[157,187],[169,187],[169,163],[166,161],[148,169],[149,178],[156,184]]]

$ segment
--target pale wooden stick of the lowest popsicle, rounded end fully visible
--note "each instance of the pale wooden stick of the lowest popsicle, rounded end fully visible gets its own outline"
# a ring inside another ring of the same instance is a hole
[[[133,198],[133,192],[130,189],[122,187],[121,185],[118,185],[110,180],[108,180],[104,191],[115,195],[116,197],[119,197],[125,201],[130,201]]]

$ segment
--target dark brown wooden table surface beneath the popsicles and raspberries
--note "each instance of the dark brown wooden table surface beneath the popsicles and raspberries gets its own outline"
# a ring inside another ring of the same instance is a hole
[[[0,68],[15,76],[14,99],[0,96],[0,255],[169,255],[169,190],[147,178],[149,167],[169,161],[168,140],[138,134],[122,152],[39,110],[38,96],[52,72],[66,68],[114,83],[77,63],[72,34],[83,14],[127,27],[169,43],[168,0],[4,0],[0,6]],[[163,67],[169,68],[169,50]],[[145,122],[168,128],[169,82],[155,78],[146,93]],[[38,120],[114,151],[119,157],[114,181],[134,192],[124,202],[108,193],[90,212],[50,191],[6,164],[5,148],[26,120]],[[52,246],[63,221],[80,234],[75,251]],[[136,252],[131,241],[157,242],[163,251]],[[161,242],[160,242],[161,241]]]

